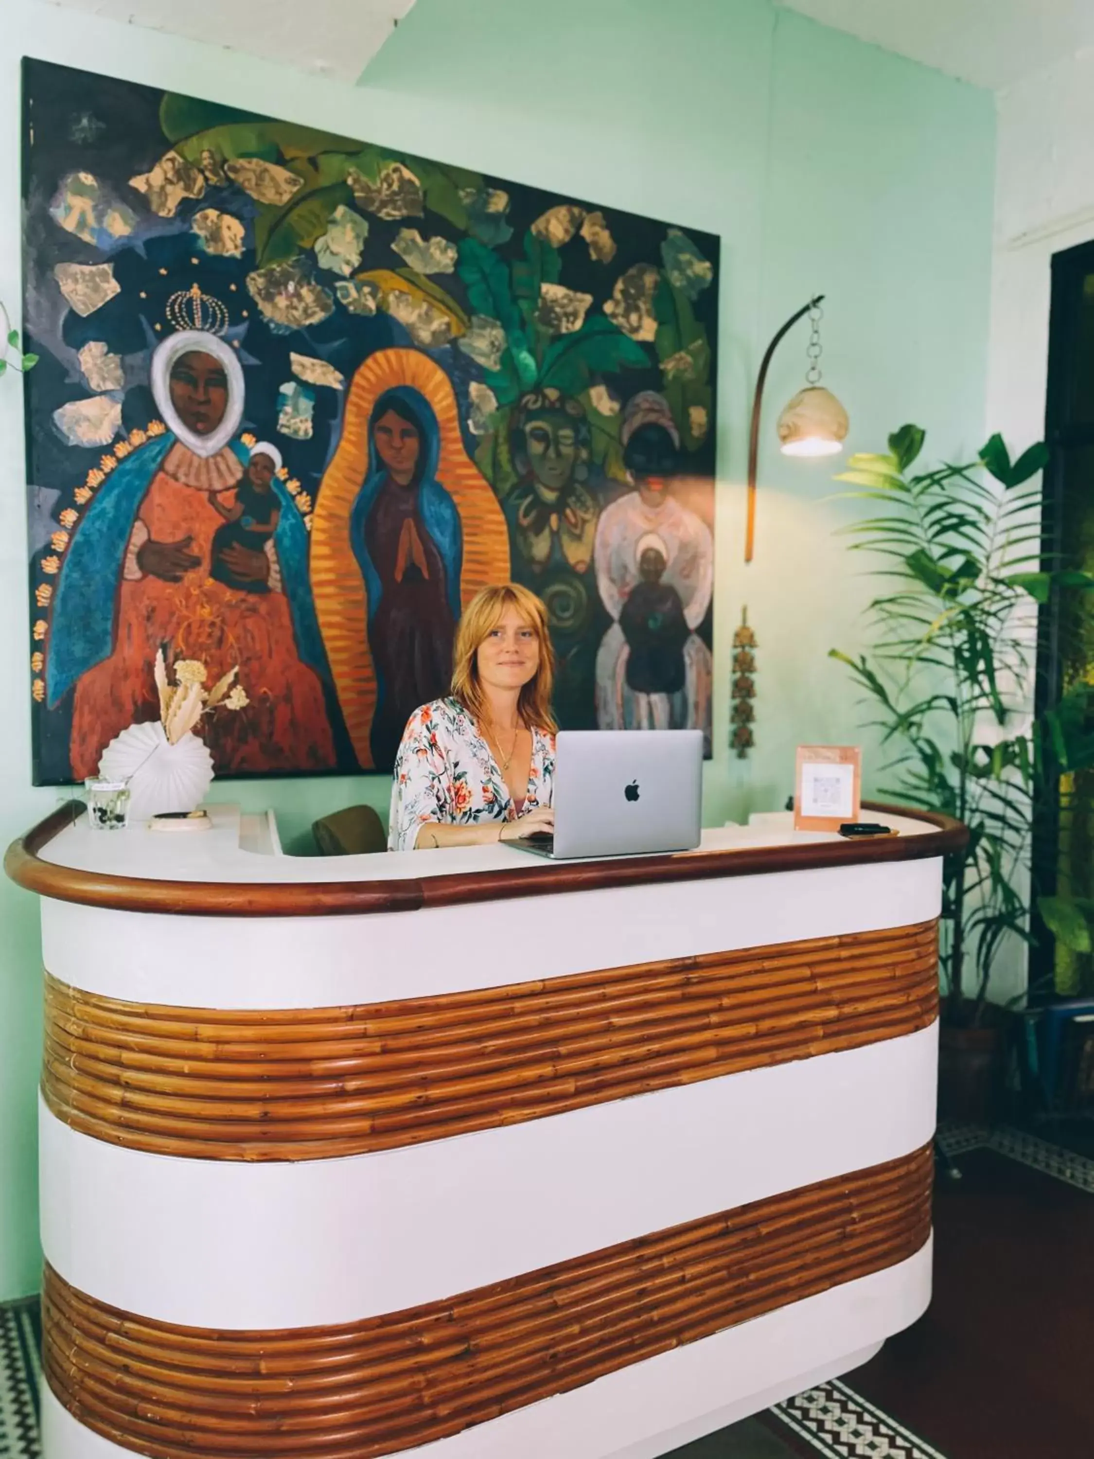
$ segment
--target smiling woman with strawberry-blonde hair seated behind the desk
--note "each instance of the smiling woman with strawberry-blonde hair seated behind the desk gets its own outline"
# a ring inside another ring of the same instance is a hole
[[[452,693],[416,709],[395,757],[391,851],[554,830],[554,654],[543,603],[483,588],[457,630]]]

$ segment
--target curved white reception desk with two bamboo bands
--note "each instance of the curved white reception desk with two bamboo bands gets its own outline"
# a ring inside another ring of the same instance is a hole
[[[42,897],[45,1459],[653,1459],[931,1291],[941,856],[7,854]]]

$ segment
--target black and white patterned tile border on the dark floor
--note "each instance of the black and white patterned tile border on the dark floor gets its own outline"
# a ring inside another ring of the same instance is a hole
[[[954,1157],[970,1150],[995,1150],[1094,1195],[1094,1160],[1036,1135],[1005,1126],[985,1129],[976,1125],[951,1125],[939,1131],[939,1142]],[[0,1307],[0,1459],[41,1459],[39,1345],[36,1301]],[[798,1446],[824,1459],[947,1459],[839,1379],[777,1404],[770,1415],[788,1437],[792,1434],[796,1439]],[[735,1459],[750,1459],[747,1446],[731,1441],[732,1434],[734,1430],[726,1430],[725,1452]],[[716,1447],[710,1447],[712,1441],[716,1444],[715,1436],[703,1441],[705,1455],[718,1453]],[[680,1459],[687,1459],[688,1449],[677,1450]],[[769,1452],[764,1447],[764,1453]]]

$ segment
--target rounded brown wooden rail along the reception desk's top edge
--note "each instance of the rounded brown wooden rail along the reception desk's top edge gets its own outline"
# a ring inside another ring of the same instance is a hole
[[[499,871],[407,878],[403,881],[160,881],[115,877],[44,861],[39,852],[83,814],[83,802],[58,807],[7,848],[4,871],[28,891],[57,902],[112,907],[120,912],[165,912],[184,916],[362,916],[373,912],[417,912],[423,907],[500,902],[508,897],[598,891],[608,887],[653,886],[665,881],[706,881],[715,877],[754,877],[776,871],[861,867],[880,861],[922,861],[960,851],[967,829],[950,816],[901,805],[866,804],[864,810],[926,821],[935,830],[919,836],[833,840],[796,846],[754,846],[734,851],[690,851],[665,856],[624,856],[604,861],[551,862],[528,858],[527,865]],[[109,835],[105,832],[104,835]],[[429,852],[422,852],[427,856]]]

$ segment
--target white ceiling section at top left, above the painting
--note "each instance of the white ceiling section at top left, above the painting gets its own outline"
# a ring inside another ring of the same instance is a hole
[[[414,0],[53,0],[356,82]]]

